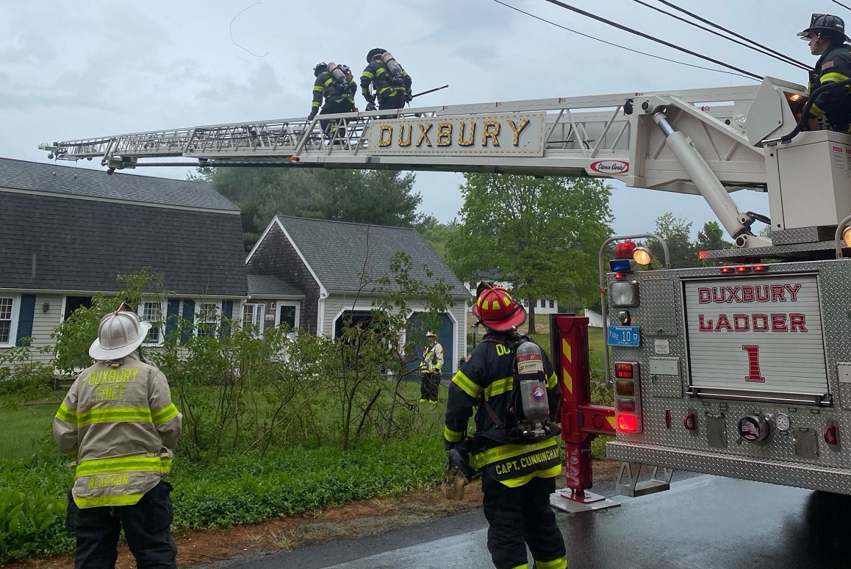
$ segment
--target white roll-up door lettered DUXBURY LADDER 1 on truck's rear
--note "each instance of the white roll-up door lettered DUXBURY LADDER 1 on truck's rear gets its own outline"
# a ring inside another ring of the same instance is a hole
[[[829,392],[817,276],[683,280],[683,296],[696,390]]]

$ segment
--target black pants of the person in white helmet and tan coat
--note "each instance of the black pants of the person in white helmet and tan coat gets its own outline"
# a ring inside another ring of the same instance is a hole
[[[123,528],[138,569],[176,569],[171,538],[172,487],[160,481],[132,506],[78,508],[68,492],[66,525],[77,534],[76,569],[114,569]]]

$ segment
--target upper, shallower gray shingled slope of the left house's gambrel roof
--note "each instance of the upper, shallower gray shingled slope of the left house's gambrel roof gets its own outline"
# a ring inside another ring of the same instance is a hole
[[[206,182],[137,174],[116,173],[109,176],[104,170],[11,158],[0,158],[0,187],[97,197],[110,201],[239,211],[237,206],[216,193]]]

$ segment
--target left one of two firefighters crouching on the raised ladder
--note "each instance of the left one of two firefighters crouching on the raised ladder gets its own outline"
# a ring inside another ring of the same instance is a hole
[[[329,115],[355,111],[357,85],[348,66],[323,62],[313,68],[313,75],[316,81],[313,82],[313,103],[307,120],[313,120],[317,113]],[[321,111],[320,105],[322,105]],[[340,141],[346,138],[346,128],[340,125],[339,121],[320,121],[319,124],[322,126],[323,133],[329,138]]]

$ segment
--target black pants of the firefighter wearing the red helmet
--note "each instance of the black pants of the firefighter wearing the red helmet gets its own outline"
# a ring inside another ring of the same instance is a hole
[[[496,569],[526,566],[526,545],[535,561],[547,564],[564,557],[564,538],[556,525],[550,494],[555,478],[533,478],[510,488],[482,476],[484,516],[488,519],[488,551]]]

